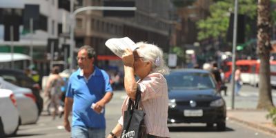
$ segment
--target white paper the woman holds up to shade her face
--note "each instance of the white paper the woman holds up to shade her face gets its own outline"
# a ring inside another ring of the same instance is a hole
[[[128,37],[108,39],[105,44],[115,55],[120,58],[122,58],[126,48],[130,48],[131,50],[135,50],[137,48],[136,44]]]

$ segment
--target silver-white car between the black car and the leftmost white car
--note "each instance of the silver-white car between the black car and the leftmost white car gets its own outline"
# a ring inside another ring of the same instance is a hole
[[[0,77],[0,88],[12,90],[17,99],[17,109],[19,110],[20,124],[34,124],[39,119],[39,112],[32,90],[15,86]]]

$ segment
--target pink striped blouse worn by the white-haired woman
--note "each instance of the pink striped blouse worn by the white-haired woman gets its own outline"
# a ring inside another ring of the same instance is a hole
[[[144,120],[147,132],[159,137],[170,137],[167,126],[168,118],[168,86],[167,81],[160,73],[152,73],[138,81],[141,88],[141,108],[146,113]],[[124,111],[128,106],[126,97],[121,106],[122,116],[119,124],[123,126]]]

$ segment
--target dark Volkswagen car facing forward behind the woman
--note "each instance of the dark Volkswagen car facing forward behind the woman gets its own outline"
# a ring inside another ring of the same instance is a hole
[[[226,129],[226,103],[217,83],[207,70],[171,70],[168,83],[168,123],[217,124]]]

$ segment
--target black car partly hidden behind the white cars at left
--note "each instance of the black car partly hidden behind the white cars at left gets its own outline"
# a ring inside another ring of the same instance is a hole
[[[39,109],[39,115],[41,114],[43,110],[43,99],[40,96],[41,87],[39,83],[34,82],[22,70],[0,69],[0,77],[3,77],[5,81],[13,83],[16,86],[32,89],[32,94],[37,99],[36,103]]]

